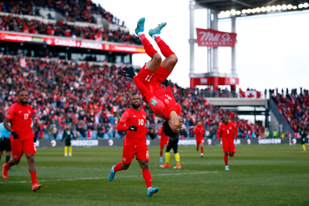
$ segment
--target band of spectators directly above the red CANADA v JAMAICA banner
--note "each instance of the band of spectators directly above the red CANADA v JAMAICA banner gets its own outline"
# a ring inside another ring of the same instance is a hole
[[[44,34],[53,36],[74,37],[79,39],[110,41],[125,44],[142,44],[140,39],[129,32],[112,30],[108,28],[80,27],[70,25],[63,21],[56,23],[43,23],[40,20],[21,19],[14,16],[0,17],[0,30],[31,34]]]

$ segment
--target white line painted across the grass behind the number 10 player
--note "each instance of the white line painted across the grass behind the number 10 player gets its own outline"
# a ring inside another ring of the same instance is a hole
[[[204,171],[204,172],[184,172],[184,173],[169,173],[169,174],[152,174],[151,176],[168,176],[168,175],[185,175],[185,174],[207,174],[207,173],[218,173],[218,171]],[[131,175],[131,176],[118,176],[115,178],[130,178],[130,177],[143,177],[142,175]],[[75,178],[75,179],[44,179],[39,182],[54,182],[54,181],[74,181],[74,180],[89,180],[89,179],[108,179],[108,177],[89,177],[89,178]],[[5,183],[31,183],[31,181],[15,181],[15,182],[0,182]]]

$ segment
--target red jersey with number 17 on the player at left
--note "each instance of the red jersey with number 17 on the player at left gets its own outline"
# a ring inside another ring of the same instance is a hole
[[[11,128],[14,132],[19,135],[19,140],[27,140],[34,137],[34,133],[31,128],[31,115],[33,109],[27,104],[26,106],[21,106],[19,103],[13,104],[8,110],[5,117],[10,119]],[[16,141],[18,139],[13,139],[10,137],[11,141]]]

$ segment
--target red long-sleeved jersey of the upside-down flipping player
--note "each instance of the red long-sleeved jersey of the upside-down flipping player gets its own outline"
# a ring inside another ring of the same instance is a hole
[[[150,106],[156,115],[166,120],[168,120],[173,110],[176,111],[177,115],[180,115],[180,104],[175,101],[170,86],[163,90],[158,84],[152,84],[150,90],[148,90],[138,77],[134,77],[133,80],[142,92],[144,102]]]

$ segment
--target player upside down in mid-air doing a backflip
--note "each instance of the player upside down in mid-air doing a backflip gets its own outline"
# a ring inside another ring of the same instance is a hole
[[[162,61],[159,53],[153,48],[144,33],[145,18],[138,20],[135,33],[141,38],[142,44],[151,60],[145,63],[138,76],[135,75],[133,69],[123,68],[122,75],[130,77],[134,80],[136,86],[142,93],[144,102],[146,102],[151,110],[166,119],[163,121],[163,132],[169,137],[178,137],[180,128],[182,127],[182,118],[179,116],[181,112],[180,105],[175,101],[171,92],[171,87],[166,78],[171,74],[178,59],[169,46],[161,40],[159,34],[166,23],[160,23],[154,29],[149,30],[149,35],[158,44],[161,53],[165,57]],[[160,84],[166,86],[166,90],[160,87]]]

